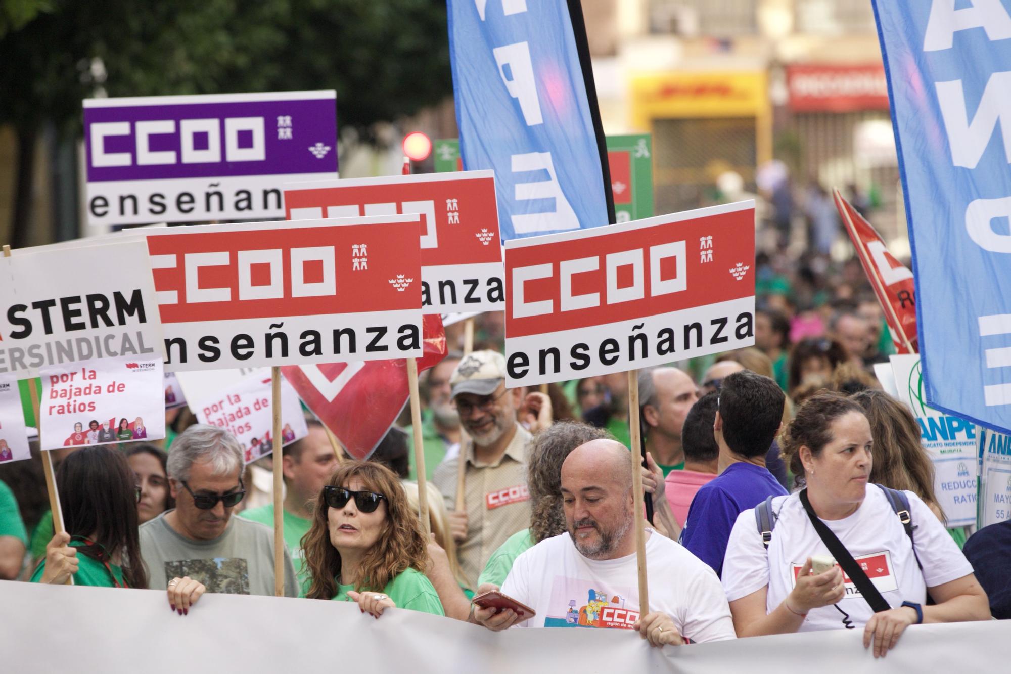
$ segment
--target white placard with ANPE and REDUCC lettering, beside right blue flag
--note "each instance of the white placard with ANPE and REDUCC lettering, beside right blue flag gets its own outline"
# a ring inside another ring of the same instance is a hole
[[[890,356],[899,400],[920,425],[920,441],[934,464],[934,493],[948,526],[976,523],[977,426],[927,406],[920,356]]]

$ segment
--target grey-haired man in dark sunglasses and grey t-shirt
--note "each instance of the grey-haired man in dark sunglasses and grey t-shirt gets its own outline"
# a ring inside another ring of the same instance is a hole
[[[141,526],[141,556],[150,587],[192,579],[207,592],[274,594],[274,532],[233,517],[246,496],[242,447],[226,430],[196,424],[172,443],[168,474],[176,507]],[[298,583],[284,549],[284,594]]]

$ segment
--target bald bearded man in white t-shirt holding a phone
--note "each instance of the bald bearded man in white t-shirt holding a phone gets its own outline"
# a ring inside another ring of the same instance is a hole
[[[648,607],[639,605],[636,512],[629,451],[591,440],[562,464],[568,529],[521,555],[501,592],[536,611],[520,620],[511,609],[475,608],[489,629],[596,627],[636,629],[652,646],[734,639],[723,588],[713,570],[678,543],[646,530]]]

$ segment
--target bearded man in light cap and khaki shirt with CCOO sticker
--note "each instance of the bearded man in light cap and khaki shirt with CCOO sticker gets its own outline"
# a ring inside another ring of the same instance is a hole
[[[474,351],[450,377],[453,402],[469,440],[447,456],[432,478],[455,508],[460,460],[465,461],[463,512],[451,512],[453,537],[464,577],[476,587],[491,554],[505,539],[530,525],[526,455],[533,431],[551,423],[551,401],[524,389],[505,389],[505,358],[495,351]]]

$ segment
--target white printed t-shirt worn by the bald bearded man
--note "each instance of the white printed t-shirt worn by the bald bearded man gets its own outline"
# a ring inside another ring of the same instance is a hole
[[[652,529],[647,534],[650,609],[670,615],[693,642],[734,639],[730,606],[713,570],[673,540]],[[537,612],[519,626],[631,629],[639,619],[638,578],[635,555],[590,560],[566,532],[517,558],[501,591]]]

